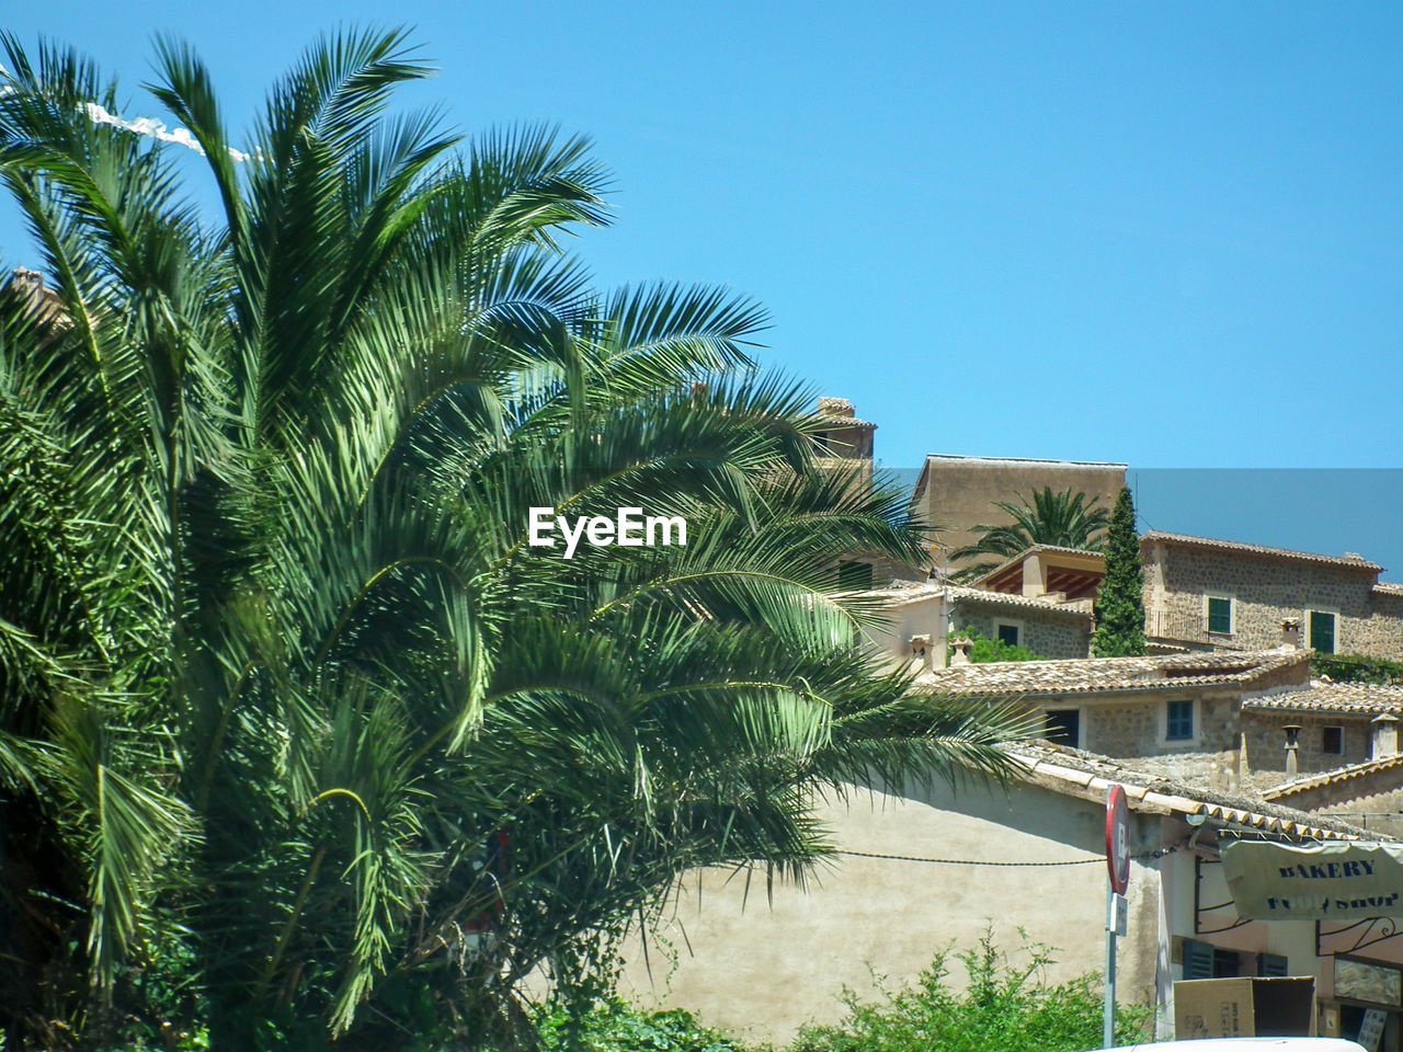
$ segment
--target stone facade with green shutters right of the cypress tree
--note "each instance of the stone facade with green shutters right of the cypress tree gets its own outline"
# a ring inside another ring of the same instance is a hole
[[[1334,614],[1336,654],[1403,658],[1403,595],[1376,586],[1372,562],[1211,544],[1146,534],[1146,635],[1204,649],[1267,649],[1294,619],[1301,642],[1324,649],[1310,638],[1310,612],[1320,612]],[[1209,631],[1209,596],[1229,600],[1230,631]]]

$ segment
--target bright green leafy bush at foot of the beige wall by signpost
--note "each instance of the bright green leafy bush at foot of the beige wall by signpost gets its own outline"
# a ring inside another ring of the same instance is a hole
[[[878,986],[881,1000],[845,993],[847,1018],[835,1027],[807,1027],[793,1052],[1072,1052],[1101,1044],[1101,986],[1082,976],[1056,986],[1042,982],[1051,950],[1023,947],[1027,959],[1010,964],[989,934],[955,958],[969,985],[950,987],[948,951],[895,993]],[[1117,1044],[1142,1039],[1150,1010],[1117,1010]]]

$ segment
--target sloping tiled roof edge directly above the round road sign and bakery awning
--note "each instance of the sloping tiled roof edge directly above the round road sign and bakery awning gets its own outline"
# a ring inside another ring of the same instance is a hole
[[[1007,752],[1027,764],[1024,781],[1083,800],[1103,801],[1111,785],[1125,790],[1131,811],[1152,815],[1205,815],[1225,825],[1322,840],[1379,839],[1347,822],[1264,801],[1244,791],[1204,790],[1127,767],[1096,753],[1047,742],[1020,742]]]

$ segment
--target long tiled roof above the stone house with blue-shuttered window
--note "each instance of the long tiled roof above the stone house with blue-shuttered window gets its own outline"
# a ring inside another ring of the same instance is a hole
[[[1076,658],[951,665],[923,673],[916,690],[932,694],[1090,694],[1184,690],[1237,683],[1306,665],[1312,651],[1169,654],[1149,658]]]

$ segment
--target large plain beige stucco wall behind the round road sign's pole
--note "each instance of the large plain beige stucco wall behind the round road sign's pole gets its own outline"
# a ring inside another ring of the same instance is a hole
[[[852,851],[927,858],[1033,863],[955,865],[840,857],[808,889],[749,885],[727,871],[692,874],[650,951],[627,950],[626,989],[648,1004],[680,1006],[706,1023],[759,1039],[787,1041],[805,1021],[838,1021],[846,985],[871,994],[873,973],[915,979],[936,951],[968,948],[992,926],[998,945],[1058,947],[1048,979],[1103,966],[1106,916],[1104,804],[1030,785],[1007,793],[967,787],[909,797],[866,793],[824,808],[836,843]],[[1135,816],[1132,853],[1159,846],[1159,821]],[[1156,978],[1157,868],[1132,863],[1132,936],[1121,940],[1120,996],[1146,1002]],[[671,951],[668,948],[671,947]],[[669,958],[669,952],[672,954]],[[955,978],[960,966],[954,965]]]

